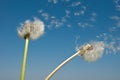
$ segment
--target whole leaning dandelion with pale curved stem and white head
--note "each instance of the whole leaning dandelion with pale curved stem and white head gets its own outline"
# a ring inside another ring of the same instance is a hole
[[[75,58],[76,56],[80,55],[86,61],[92,62],[99,59],[104,50],[104,43],[103,42],[91,42],[89,44],[83,45],[75,54],[70,56],[68,59],[63,61],[57,68],[55,68],[46,78],[45,80],[50,80],[50,78],[66,63],[70,60]]]

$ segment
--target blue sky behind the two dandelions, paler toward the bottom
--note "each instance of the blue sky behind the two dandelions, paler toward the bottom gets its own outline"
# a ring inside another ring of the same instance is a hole
[[[101,59],[78,56],[51,80],[120,80],[120,0],[0,0],[0,80],[20,80],[25,40],[17,28],[34,17],[45,34],[30,41],[25,80],[44,80],[90,41],[106,43]]]

